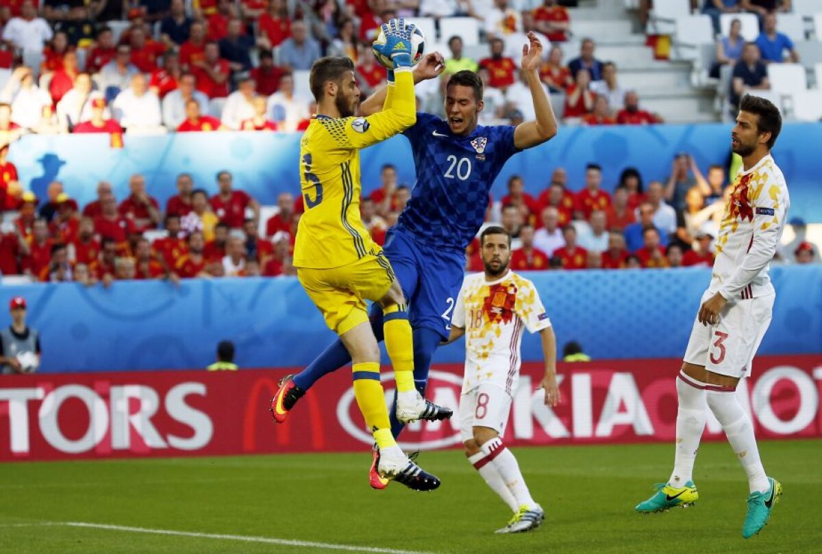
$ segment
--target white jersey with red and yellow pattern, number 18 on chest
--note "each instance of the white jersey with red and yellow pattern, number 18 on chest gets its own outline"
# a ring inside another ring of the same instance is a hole
[[[533,283],[508,271],[496,281],[465,277],[451,324],[465,329],[463,394],[491,383],[513,395],[520,382],[523,327],[551,327]]]

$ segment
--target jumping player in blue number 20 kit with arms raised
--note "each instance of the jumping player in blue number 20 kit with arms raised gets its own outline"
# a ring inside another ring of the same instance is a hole
[[[528,38],[521,67],[531,90],[536,121],[518,126],[478,125],[483,81],[473,71],[458,71],[450,76],[446,89],[446,120],[418,112],[417,122],[403,132],[411,143],[417,182],[397,225],[388,231],[383,252],[409,299],[414,383],[423,396],[434,350],[449,337],[450,317],[464,276],[465,249],[485,221],[494,179],[515,153],[556,135],[556,117],[539,80],[543,45],[533,33]],[[414,71],[415,82],[439,76],[442,65],[439,54],[429,54]],[[382,87],[363,102],[363,115],[380,111],[385,98],[386,88]],[[381,340],[378,304],[372,306],[371,322]],[[282,423],[309,387],[350,361],[342,342],[336,341],[302,373],[283,378],[272,402],[281,399],[286,411],[275,414],[275,420]],[[421,419],[450,418],[451,410],[428,404]],[[404,425],[395,419],[393,410],[391,414],[391,431],[396,437]],[[375,470],[378,459],[375,448],[370,482],[373,488],[385,488],[388,482]]]

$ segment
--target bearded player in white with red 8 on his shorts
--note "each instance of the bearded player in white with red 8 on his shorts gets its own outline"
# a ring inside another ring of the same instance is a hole
[[[465,335],[465,375],[459,432],[465,456],[514,511],[497,533],[536,529],[545,518],[525,485],[516,458],[502,442],[512,397],[520,382],[523,327],[543,341],[545,403],[556,405],[556,339],[533,283],[510,271],[510,235],[487,227],[480,236],[484,273],[465,277],[451,319],[449,342]]]

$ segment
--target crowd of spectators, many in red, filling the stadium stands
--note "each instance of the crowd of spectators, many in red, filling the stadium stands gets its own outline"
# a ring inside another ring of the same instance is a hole
[[[621,87],[615,64],[595,57],[592,39],[583,39],[579,56],[565,64],[561,43],[568,39],[570,15],[554,0],[194,0],[191,8],[183,0],[44,0],[42,5],[24,0],[0,6],[0,67],[13,68],[0,91],[0,144],[5,144],[0,148],[0,208],[18,214],[13,224],[3,224],[2,275],[104,284],[293,275],[290,254],[303,209],[297,183],[293,194],[279,195],[278,210],[262,224],[260,205],[233,188],[230,172],[220,172],[216,186],[178,176],[178,195],[164,209],[146,193],[141,175],[132,176],[127,198],[115,198],[112,185],[100,182],[98,198],[80,207],[59,182],[49,185],[47,199],[22,190],[16,167],[7,161],[8,144],[23,132],[103,132],[119,148],[124,130],[303,130],[314,107],[310,98],[297,94],[294,71],[309,69],[326,53],[346,55],[357,62],[363,90],[376,88],[386,72],[374,62],[368,44],[381,22],[395,16],[462,15],[483,21],[488,56],[464,57],[462,39],[451,37],[446,71],[435,87],[441,92],[456,71],[479,71],[487,85],[482,123],[533,118],[515,62],[530,30],[552,44],[541,75],[550,93],[565,94],[566,119],[585,125],[660,121],[640,109],[635,91]],[[123,16],[130,25],[116,39],[107,22]],[[763,15],[763,25],[759,46],[742,48],[738,28],[732,26],[719,48],[720,63],[739,57],[735,89],[738,80],[767,85],[760,51],[767,53],[766,60],[780,58],[785,48],[792,52],[790,40],[774,34],[771,16]],[[39,61],[26,66],[30,60]],[[409,186],[397,182],[394,167],[383,167],[381,180],[361,204],[363,222],[378,243],[410,196]],[[703,176],[682,153],[667,180],[647,186],[640,171],[627,168],[613,195],[600,188],[596,163],[588,165],[580,192],[572,192],[566,181],[565,170],[557,167],[534,197],[514,176],[501,201],[489,199],[487,220],[500,222],[515,237],[515,269],[713,263],[712,240],[727,195],[723,167],[712,166]],[[783,254],[793,256],[802,263],[815,259],[815,252],[801,242]],[[466,253],[466,268],[481,269],[476,242]]]

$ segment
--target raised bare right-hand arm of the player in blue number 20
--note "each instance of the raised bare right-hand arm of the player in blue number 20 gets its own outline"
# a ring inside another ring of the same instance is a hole
[[[533,110],[537,121],[526,121],[514,130],[514,145],[518,149],[527,149],[543,144],[556,136],[557,123],[551,100],[545,93],[543,83],[539,80],[539,64],[543,59],[543,45],[536,34],[528,34],[529,44],[522,47],[522,71],[528,82],[533,98]]]

